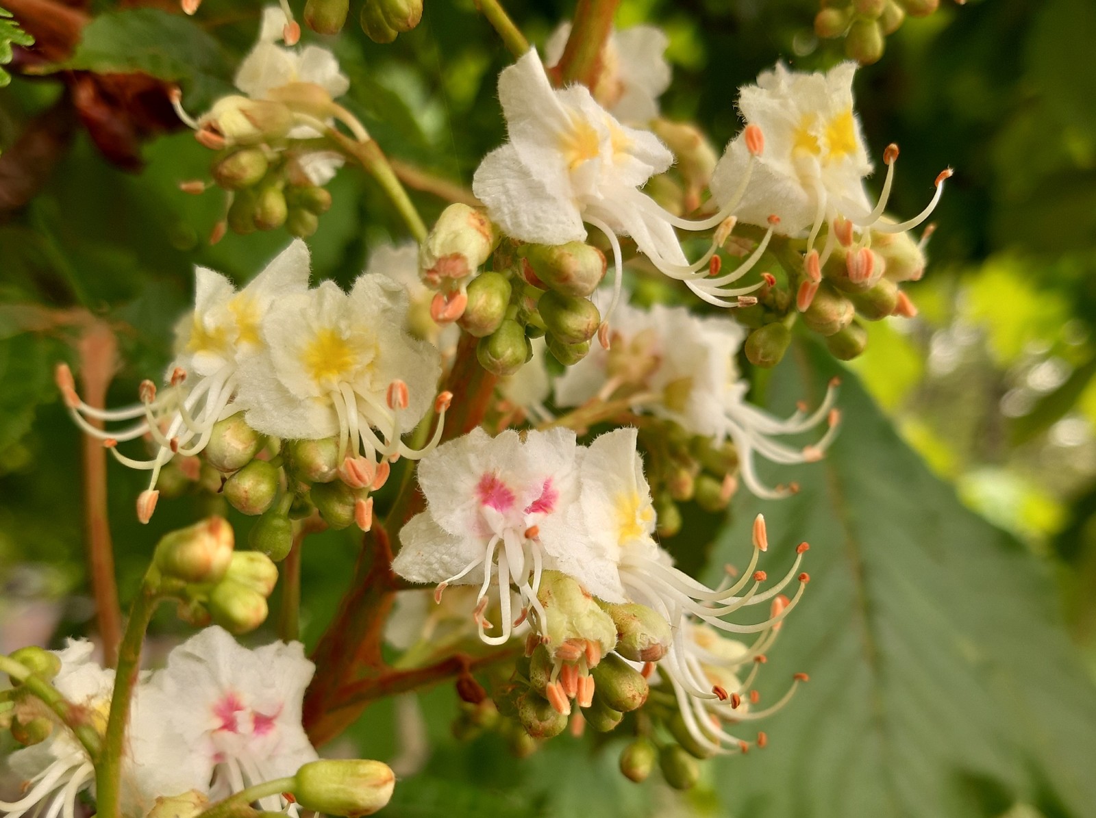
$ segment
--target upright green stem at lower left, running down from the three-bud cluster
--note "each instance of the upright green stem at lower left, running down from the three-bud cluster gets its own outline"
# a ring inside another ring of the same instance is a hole
[[[122,756],[125,751],[126,725],[137,675],[140,671],[140,650],[152,612],[160,601],[158,584],[152,568],[145,575],[140,592],[129,609],[129,622],[118,649],[118,667],[111,696],[111,714],[106,719],[106,738],[95,769],[95,793],[99,818],[121,818]]]

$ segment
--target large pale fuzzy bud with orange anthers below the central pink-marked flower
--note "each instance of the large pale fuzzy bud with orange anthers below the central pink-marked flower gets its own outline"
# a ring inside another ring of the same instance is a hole
[[[594,658],[616,645],[616,624],[586,590],[567,574],[546,571],[540,578],[537,599],[545,607],[548,626],[545,636],[558,658],[566,658],[574,645],[595,646]],[[591,667],[596,661],[587,661]]]

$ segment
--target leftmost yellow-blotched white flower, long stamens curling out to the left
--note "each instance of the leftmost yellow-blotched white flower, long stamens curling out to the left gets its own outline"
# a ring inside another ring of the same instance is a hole
[[[58,367],[58,385],[77,425],[104,440],[125,465],[152,472],[148,489],[137,500],[142,522],[148,522],[156,508],[160,470],[176,454],[201,452],[214,424],[244,408],[233,395],[241,364],[264,348],[260,324],[274,303],[307,291],[308,275],[308,246],[299,240],[239,291],[219,273],[195,268],[194,311],[175,327],[175,360],[168,368],[168,389],[157,396],[156,385],[145,381],[137,405],[119,410],[89,406],[77,394],[68,367]],[[104,430],[89,420],[136,423]],[[158,447],[150,460],[134,460],[115,448],[146,435]]]

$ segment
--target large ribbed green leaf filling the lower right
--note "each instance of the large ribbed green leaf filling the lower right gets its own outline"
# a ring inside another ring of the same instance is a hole
[[[840,372],[820,348],[797,349],[768,403],[786,413],[818,401]],[[757,511],[770,574],[801,539],[812,546],[811,581],[768,654],[762,701],[794,672],[811,681],[762,725],[767,749],[722,762],[728,803],[752,818],[968,818],[997,815],[1006,793],[1096,814],[1096,690],[1063,631],[1049,566],[964,508],[854,378],[840,405],[844,430],[826,458],[777,477],[801,492],[740,493],[717,549],[716,564],[741,564]]]

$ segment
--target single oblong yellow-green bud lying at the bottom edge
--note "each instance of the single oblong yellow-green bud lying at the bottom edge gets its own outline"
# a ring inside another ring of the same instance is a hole
[[[327,815],[373,815],[392,797],[388,764],[364,759],[322,759],[297,770],[293,794],[305,809]]]

